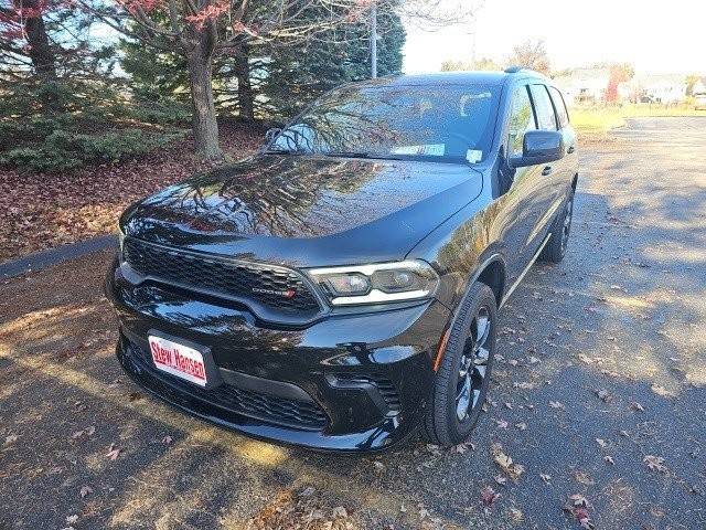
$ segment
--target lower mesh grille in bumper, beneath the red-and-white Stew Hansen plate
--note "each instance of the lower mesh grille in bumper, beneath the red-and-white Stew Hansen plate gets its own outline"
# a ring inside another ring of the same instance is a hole
[[[136,353],[130,360],[138,370],[132,374],[152,392],[167,400],[190,409],[190,395],[225,411],[261,420],[267,423],[304,431],[321,431],[327,426],[328,417],[315,402],[289,400],[275,395],[238,389],[222,384],[212,390],[201,389],[169,374],[160,373],[147,361],[141,348],[130,347]]]

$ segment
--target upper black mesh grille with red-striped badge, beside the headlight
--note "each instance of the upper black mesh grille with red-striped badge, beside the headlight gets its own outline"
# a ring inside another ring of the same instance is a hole
[[[320,306],[301,276],[290,269],[233,262],[127,237],[122,258],[139,275],[178,287],[248,300],[280,312],[315,315]],[[292,292],[288,298],[282,293]]]

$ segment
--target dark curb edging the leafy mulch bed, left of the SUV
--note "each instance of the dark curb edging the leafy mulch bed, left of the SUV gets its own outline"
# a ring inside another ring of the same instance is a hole
[[[79,241],[78,243],[68,243],[55,248],[49,248],[0,264],[0,278],[8,279],[24,273],[41,271],[42,268],[51,267],[67,259],[75,259],[86,254],[116,247],[117,244],[117,236],[100,235],[98,237],[92,237],[90,240]]]

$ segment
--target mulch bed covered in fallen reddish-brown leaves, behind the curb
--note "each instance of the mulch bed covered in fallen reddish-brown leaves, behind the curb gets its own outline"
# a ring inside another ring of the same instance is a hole
[[[238,159],[263,141],[259,124],[220,124],[221,147]],[[0,263],[115,231],[131,202],[208,169],[191,139],[139,159],[65,173],[0,170]]]

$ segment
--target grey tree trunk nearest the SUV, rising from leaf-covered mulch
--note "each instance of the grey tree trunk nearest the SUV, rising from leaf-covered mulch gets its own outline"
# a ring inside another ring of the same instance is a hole
[[[218,146],[218,124],[211,86],[213,52],[208,47],[196,45],[186,57],[194,107],[193,134],[196,153],[206,160],[222,160],[223,151]]]

